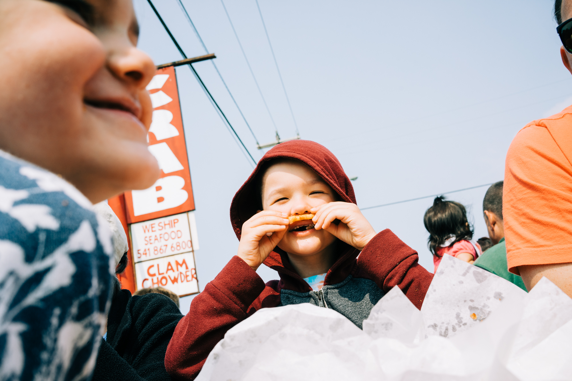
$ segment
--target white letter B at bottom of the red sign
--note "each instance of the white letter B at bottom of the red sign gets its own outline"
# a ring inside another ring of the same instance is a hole
[[[167,176],[159,179],[153,187],[142,191],[131,191],[133,197],[133,215],[158,212],[181,205],[189,198],[182,187],[185,179],[180,176]]]

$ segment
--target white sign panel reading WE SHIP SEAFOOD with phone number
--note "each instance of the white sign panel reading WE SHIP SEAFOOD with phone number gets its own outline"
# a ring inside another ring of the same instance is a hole
[[[193,250],[186,213],[131,224],[131,240],[135,263]]]

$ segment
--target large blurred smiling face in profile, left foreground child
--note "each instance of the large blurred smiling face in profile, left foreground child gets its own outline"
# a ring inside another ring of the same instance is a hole
[[[156,68],[131,0],[0,0],[0,148],[62,175],[92,202],[153,185]]]

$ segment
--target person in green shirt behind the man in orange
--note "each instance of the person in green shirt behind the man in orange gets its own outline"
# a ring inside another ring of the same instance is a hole
[[[483,199],[484,222],[487,224],[488,236],[492,247],[482,256],[476,258],[474,265],[487,270],[507,281],[526,290],[525,283],[518,275],[509,272],[506,262],[505,226],[502,219],[502,188],[503,181],[494,183],[488,188]],[[528,292],[528,291],[527,291]]]

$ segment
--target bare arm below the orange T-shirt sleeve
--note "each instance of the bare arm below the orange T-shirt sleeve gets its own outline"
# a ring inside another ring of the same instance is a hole
[[[518,271],[527,290],[546,277],[572,298],[572,263],[518,266]]]

